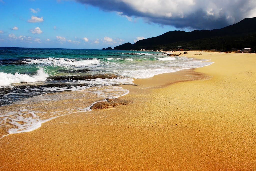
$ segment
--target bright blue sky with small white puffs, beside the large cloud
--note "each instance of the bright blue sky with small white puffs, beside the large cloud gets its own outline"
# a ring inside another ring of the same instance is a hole
[[[0,11],[0,47],[114,48],[175,29],[74,1],[5,0]]]

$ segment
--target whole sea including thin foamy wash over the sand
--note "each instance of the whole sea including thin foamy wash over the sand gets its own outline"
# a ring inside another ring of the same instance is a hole
[[[135,86],[134,79],[212,64],[184,55],[166,55],[0,47],[0,137],[34,130],[59,116],[90,111],[97,100],[128,94],[122,85]]]

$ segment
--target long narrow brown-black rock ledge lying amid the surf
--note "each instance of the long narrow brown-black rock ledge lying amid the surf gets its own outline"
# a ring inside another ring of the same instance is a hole
[[[112,79],[116,77],[122,77],[118,75],[71,75],[71,76],[53,76],[50,77],[49,79],[52,80],[65,80],[65,79],[78,79],[78,80],[83,80],[83,79],[96,79],[96,78],[102,78],[102,79]]]

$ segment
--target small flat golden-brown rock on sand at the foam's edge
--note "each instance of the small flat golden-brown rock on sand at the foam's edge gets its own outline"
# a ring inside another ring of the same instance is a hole
[[[99,101],[97,103],[95,103],[91,109],[105,109],[105,108],[109,108],[109,107],[114,107],[114,106],[118,106],[118,105],[129,105],[132,104],[133,101],[129,101],[129,100],[122,100],[122,99],[106,99],[106,101]]]

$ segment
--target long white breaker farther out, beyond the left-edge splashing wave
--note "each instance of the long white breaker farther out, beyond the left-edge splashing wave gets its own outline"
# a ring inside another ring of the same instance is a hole
[[[100,64],[100,61],[98,59],[75,60],[68,58],[26,59],[23,62],[26,62],[27,64],[48,64],[57,66],[85,66]]]

